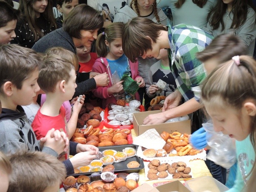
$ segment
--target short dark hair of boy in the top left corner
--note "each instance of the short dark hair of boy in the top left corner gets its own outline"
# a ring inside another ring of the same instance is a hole
[[[6,1],[0,1],[0,28],[12,20],[18,20],[20,11],[14,9]]]

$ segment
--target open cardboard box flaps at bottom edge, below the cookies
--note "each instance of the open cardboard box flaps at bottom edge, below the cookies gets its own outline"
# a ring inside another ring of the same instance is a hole
[[[164,185],[160,185],[157,187],[153,187],[147,183],[144,183],[134,189],[132,192],[170,192],[170,191],[178,191],[178,192],[190,192],[188,188],[186,188],[180,181],[176,180]]]

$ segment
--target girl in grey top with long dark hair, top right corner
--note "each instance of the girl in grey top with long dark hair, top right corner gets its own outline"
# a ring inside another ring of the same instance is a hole
[[[208,14],[207,26],[203,29],[214,37],[232,32],[248,46],[248,55],[253,56],[256,37],[256,9],[252,0],[218,0]]]

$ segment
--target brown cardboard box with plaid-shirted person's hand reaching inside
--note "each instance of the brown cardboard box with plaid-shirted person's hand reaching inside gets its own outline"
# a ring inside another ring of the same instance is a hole
[[[167,131],[168,133],[178,131],[180,133],[191,134],[191,120],[178,121],[172,123],[160,123],[154,125],[143,125],[143,120],[149,114],[155,114],[160,112],[161,110],[133,113],[133,128],[136,135],[139,136],[151,128],[155,128],[159,134],[161,134],[163,131]]]

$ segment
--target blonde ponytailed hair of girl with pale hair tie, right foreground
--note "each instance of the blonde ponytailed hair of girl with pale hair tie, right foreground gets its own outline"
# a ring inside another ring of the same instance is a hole
[[[243,103],[250,99],[256,104],[256,61],[250,56],[239,56],[240,64],[233,59],[218,66],[202,85],[202,102],[211,106],[231,106],[240,112]],[[222,101],[221,103],[220,100]],[[251,117],[250,140],[256,153],[256,116]],[[256,161],[248,174],[248,189],[255,186]],[[250,186],[250,187],[249,187]]]

